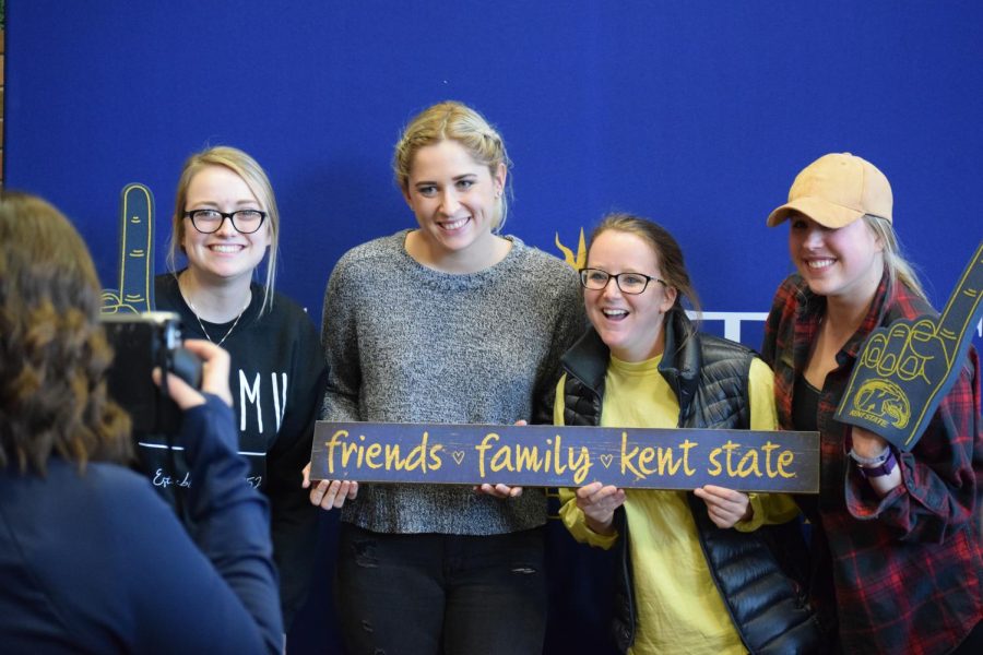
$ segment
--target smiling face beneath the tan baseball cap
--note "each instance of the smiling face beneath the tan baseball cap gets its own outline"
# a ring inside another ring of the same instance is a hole
[[[869,302],[884,273],[884,248],[863,219],[833,229],[796,213],[790,226],[789,252],[809,290],[851,305]]]

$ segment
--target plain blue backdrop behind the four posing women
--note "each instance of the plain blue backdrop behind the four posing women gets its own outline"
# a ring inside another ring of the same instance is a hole
[[[181,163],[224,143],[268,169],[280,288],[319,321],[337,258],[413,223],[392,145],[447,98],[506,138],[506,231],[562,257],[556,240],[576,251],[605,212],[652,217],[683,245],[704,309],[730,319],[707,329],[753,346],[760,323],[738,314],[767,311],[791,271],[786,228],[765,217],[821,154],[885,171],[936,306],[983,237],[983,3],[971,0],[7,4],[8,187],[75,222],[105,286],[120,189],[156,195],[164,270]],[[336,647],[319,575],[297,652]],[[561,639],[550,647],[576,652]]]

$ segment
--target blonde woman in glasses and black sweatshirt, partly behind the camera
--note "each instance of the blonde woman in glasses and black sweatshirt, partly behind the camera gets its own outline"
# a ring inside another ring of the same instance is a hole
[[[228,350],[239,451],[249,483],[270,499],[273,556],[284,624],[307,594],[317,513],[300,487],[327,371],[307,313],[274,290],[280,213],[267,174],[248,154],[218,146],[192,155],[178,181],[170,240],[187,267],[159,275],[156,307],[177,312],[186,336]],[[256,282],[265,260],[264,283]],[[193,483],[168,469],[166,453],[146,449],[150,475],[174,487]]]

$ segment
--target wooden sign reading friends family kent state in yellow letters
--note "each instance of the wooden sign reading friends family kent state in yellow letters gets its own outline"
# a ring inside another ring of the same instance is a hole
[[[818,432],[318,421],[311,478],[819,491]]]

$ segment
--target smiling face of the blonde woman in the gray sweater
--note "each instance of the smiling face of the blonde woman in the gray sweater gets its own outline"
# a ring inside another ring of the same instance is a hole
[[[485,259],[495,240],[492,229],[498,223],[505,178],[504,165],[493,176],[457,141],[419,148],[403,193],[429,250],[438,258]]]

